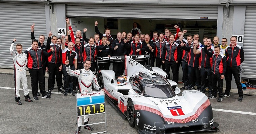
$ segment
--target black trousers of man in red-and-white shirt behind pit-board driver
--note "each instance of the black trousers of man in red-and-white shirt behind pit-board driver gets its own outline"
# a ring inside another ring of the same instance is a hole
[[[74,65],[70,65],[70,69],[71,70],[75,70],[75,66]],[[66,65],[62,66],[62,70],[63,70],[63,80],[64,80],[64,90],[65,93],[71,93],[73,92],[73,76],[68,75],[67,70],[66,70]],[[77,77],[76,77],[77,78]]]

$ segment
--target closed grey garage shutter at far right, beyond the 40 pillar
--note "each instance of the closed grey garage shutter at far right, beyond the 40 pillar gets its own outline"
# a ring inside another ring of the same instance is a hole
[[[245,70],[243,78],[256,78],[256,7],[246,7],[244,51],[245,61],[242,66]]]

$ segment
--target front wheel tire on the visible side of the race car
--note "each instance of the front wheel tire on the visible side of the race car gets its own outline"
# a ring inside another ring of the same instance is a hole
[[[133,102],[132,102],[131,99],[128,101],[126,115],[127,115],[127,120],[129,122],[129,125],[131,127],[134,127],[134,125],[135,125],[135,112],[134,112],[134,105],[133,105]]]

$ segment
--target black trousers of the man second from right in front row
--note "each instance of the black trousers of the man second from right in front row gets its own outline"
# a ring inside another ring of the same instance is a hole
[[[219,98],[222,98],[222,92],[223,92],[223,79],[220,78],[222,74],[213,74],[212,73],[212,84],[213,84],[213,96],[217,96],[217,88],[219,91]],[[217,87],[217,81],[218,81],[218,87]]]

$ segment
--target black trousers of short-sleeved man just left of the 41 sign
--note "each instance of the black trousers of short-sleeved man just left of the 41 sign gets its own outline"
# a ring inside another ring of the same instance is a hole
[[[48,71],[49,71],[49,78],[48,78],[48,90],[51,90],[52,84],[55,80],[56,76],[56,83],[58,90],[61,88],[62,85],[62,76],[59,71],[60,63],[48,63]]]

